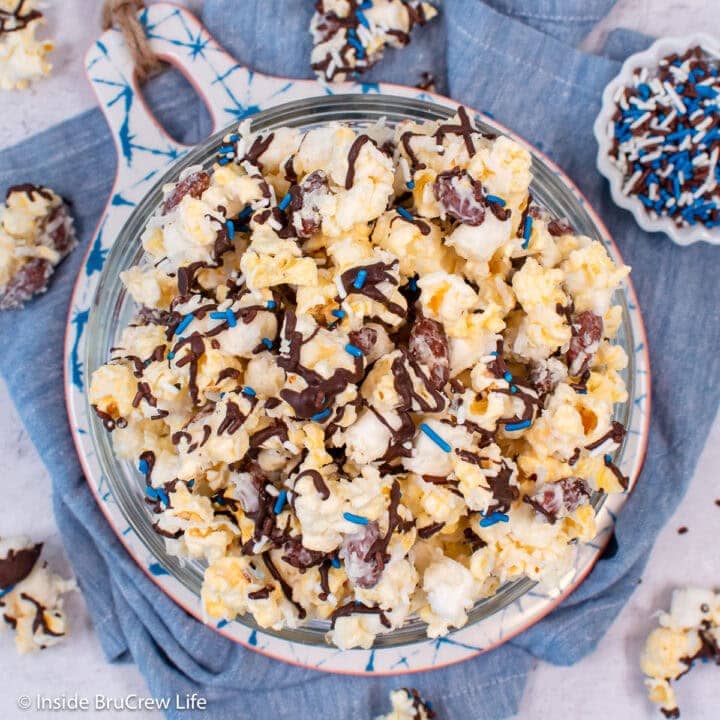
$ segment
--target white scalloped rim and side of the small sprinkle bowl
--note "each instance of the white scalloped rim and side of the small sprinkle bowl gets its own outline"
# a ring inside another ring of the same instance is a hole
[[[625,60],[620,72],[605,87],[602,108],[593,125],[593,132],[598,143],[597,168],[610,183],[610,194],[615,204],[629,210],[643,230],[647,232],[663,232],[678,245],[691,245],[700,240],[704,240],[711,245],[720,245],[720,228],[710,230],[702,225],[679,228],[668,217],[651,218],[646,212],[645,206],[637,197],[623,193],[623,175],[610,162],[608,154],[611,138],[607,134],[607,127],[615,112],[613,97],[616,91],[632,83],[632,75],[635,70],[643,67],[649,70],[656,68],[660,60],[667,55],[672,53],[682,54],[695,45],[700,45],[709,55],[714,55],[720,59],[720,41],[706,33],[695,33],[684,37],[661,38],[656,40],[647,50],[630,55]]]

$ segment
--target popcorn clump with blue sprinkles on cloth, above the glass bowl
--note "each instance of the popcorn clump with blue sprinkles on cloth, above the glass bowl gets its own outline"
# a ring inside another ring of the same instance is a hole
[[[421,0],[317,0],[312,69],[328,82],[351,80],[380,60],[386,45],[405,47],[412,29],[436,15]]]

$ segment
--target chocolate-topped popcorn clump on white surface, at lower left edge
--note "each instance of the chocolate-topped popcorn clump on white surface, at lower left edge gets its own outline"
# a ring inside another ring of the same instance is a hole
[[[0,614],[21,653],[56,645],[69,632],[62,596],[75,582],[39,562],[41,550],[26,537],[0,538]]]

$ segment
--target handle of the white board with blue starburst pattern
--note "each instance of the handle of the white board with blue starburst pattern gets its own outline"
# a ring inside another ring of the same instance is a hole
[[[322,92],[311,81],[288,81],[241,66],[184,8],[156,3],[138,17],[153,51],[182,72],[204,100],[212,132],[254,114],[273,98],[283,102]],[[114,28],[103,33],[85,57],[88,81],[117,148],[118,185],[128,202],[147,192],[144,178],[154,177],[188,150],[165,132],[145,104],[133,65],[122,33]],[[135,183],[137,197],[126,197]]]

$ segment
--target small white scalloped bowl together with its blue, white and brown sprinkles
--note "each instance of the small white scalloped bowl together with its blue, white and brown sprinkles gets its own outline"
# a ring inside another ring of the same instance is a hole
[[[720,244],[720,46],[658,40],[603,93],[597,166],[613,200],[648,232]]]

